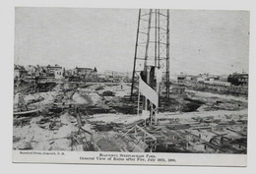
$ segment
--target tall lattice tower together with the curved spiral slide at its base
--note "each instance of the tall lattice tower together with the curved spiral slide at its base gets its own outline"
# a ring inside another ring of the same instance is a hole
[[[159,98],[169,97],[169,10],[139,10],[131,97],[138,79],[138,114],[142,92],[142,114],[150,115],[150,125],[157,124]]]

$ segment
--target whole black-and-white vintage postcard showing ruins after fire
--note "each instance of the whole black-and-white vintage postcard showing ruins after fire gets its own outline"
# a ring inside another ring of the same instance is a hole
[[[16,7],[13,162],[246,166],[249,21]]]

